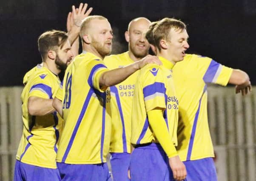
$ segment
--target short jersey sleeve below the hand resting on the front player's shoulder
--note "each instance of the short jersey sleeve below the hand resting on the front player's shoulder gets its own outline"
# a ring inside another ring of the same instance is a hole
[[[166,109],[166,88],[161,68],[148,69],[140,78],[146,111],[151,111],[157,107]]]

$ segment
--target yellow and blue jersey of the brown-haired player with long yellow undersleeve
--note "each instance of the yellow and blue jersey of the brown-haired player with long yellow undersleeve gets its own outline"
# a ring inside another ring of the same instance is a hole
[[[173,64],[159,57],[163,65],[148,64],[139,71],[134,90],[131,115],[131,143],[133,145],[158,143],[148,123],[147,112],[164,110],[163,117],[174,145],[177,145],[179,101],[172,78]]]

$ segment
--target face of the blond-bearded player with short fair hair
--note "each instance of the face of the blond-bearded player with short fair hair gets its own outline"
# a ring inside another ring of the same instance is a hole
[[[102,56],[111,53],[113,32],[107,19],[93,19],[90,22],[91,47]]]

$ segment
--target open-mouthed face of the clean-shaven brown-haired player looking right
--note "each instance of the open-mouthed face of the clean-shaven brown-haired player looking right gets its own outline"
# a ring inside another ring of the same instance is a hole
[[[168,38],[166,42],[168,55],[174,62],[182,61],[186,55],[185,51],[189,48],[186,29],[171,28]]]

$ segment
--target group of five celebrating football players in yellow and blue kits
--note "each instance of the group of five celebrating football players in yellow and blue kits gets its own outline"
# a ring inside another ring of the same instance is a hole
[[[131,20],[128,51],[108,56],[111,25],[91,11],[72,6],[68,33],[38,39],[43,62],[23,78],[14,181],[216,181],[207,84],[246,95],[248,75],[186,54],[186,25],[174,18]]]

